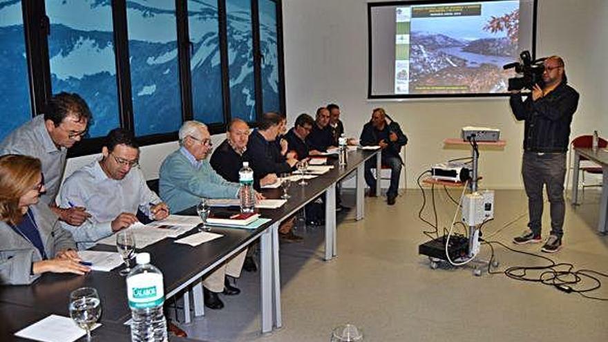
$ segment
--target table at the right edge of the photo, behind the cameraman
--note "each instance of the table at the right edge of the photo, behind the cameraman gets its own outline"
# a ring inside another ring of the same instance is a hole
[[[598,231],[601,234],[608,233],[608,150],[607,149],[582,149],[574,148],[574,172],[572,174],[572,204],[578,204],[578,171],[580,170],[580,158],[584,157],[602,167],[602,196],[600,198],[600,220]]]

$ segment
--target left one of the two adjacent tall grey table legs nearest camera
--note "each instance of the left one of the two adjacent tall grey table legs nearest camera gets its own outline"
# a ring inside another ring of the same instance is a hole
[[[260,236],[260,298],[262,300],[262,333],[272,331],[272,231]]]

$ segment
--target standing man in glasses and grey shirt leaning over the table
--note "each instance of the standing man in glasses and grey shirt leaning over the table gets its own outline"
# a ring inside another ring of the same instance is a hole
[[[57,207],[55,197],[64,177],[68,149],[86,135],[89,121],[91,111],[82,97],[59,93],[51,97],[44,115],[15,129],[0,144],[0,155],[30,155],[41,161],[46,193],[40,200],[70,225],[82,225],[90,215],[82,207]]]

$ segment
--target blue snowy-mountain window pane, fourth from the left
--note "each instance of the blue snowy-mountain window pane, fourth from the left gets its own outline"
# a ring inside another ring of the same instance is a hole
[[[224,122],[217,0],[188,1],[194,120]]]

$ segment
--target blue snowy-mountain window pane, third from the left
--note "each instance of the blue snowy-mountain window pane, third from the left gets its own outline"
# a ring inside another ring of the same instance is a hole
[[[182,124],[175,1],[127,1],[135,134],[178,131]]]

